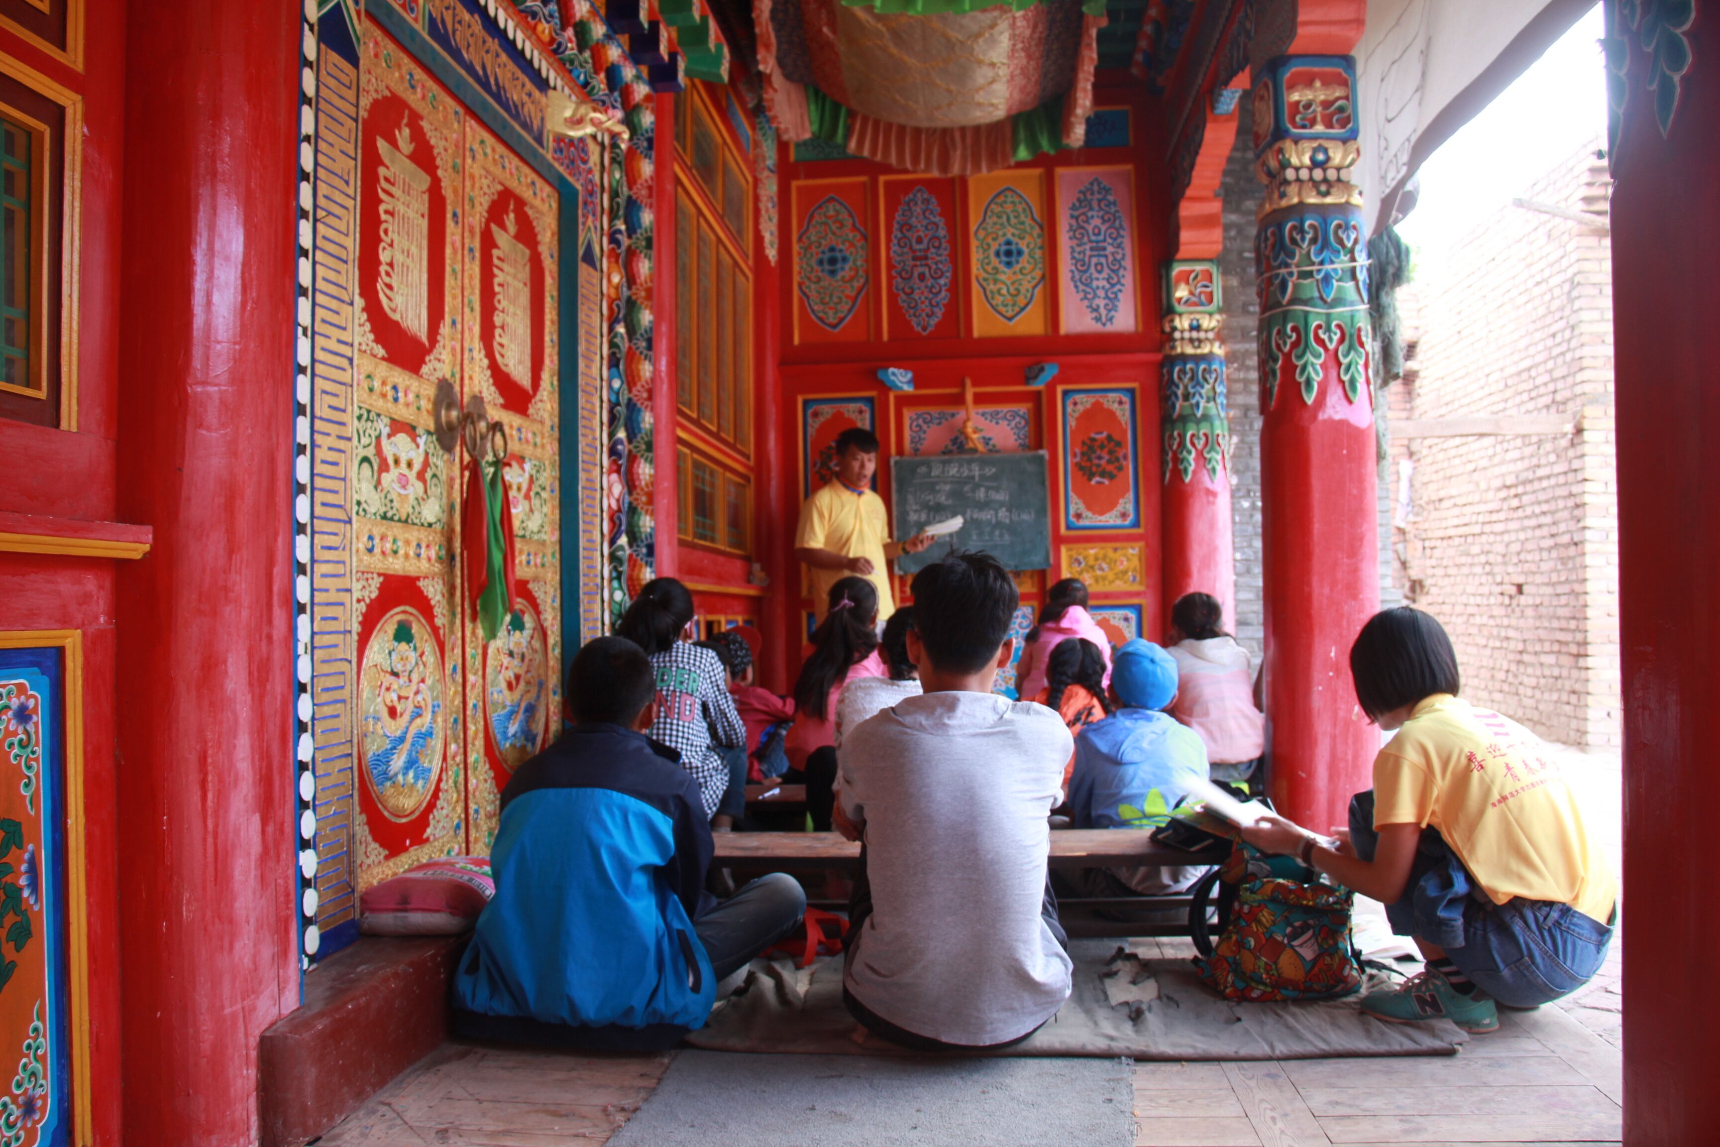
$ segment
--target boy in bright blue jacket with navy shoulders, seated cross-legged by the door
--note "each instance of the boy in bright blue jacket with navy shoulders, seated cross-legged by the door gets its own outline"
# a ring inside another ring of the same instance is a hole
[[[502,789],[495,898],[454,973],[459,1037],[664,1049],[703,1027],[717,980],[795,930],[788,875],[717,905],[710,824],[678,753],[652,741],[657,683],[624,638],[568,667],[573,727]]]

